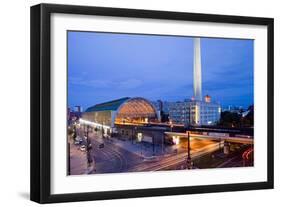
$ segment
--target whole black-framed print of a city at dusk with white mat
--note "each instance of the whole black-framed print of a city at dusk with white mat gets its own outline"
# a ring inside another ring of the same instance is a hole
[[[31,200],[273,188],[273,19],[31,7]]]

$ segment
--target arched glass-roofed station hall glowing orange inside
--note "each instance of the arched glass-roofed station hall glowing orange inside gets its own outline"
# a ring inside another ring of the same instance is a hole
[[[141,97],[121,98],[89,107],[80,122],[103,128],[105,133],[118,130],[122,125],[145,125],[157,122],[159,112],[147,99]]]

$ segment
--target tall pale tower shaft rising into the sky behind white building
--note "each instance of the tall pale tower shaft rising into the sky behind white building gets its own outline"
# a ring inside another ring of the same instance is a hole
[[[202,101],[202,77],[201,77],[201,49],[200,38],[194,38],[193,53],[193,90],[194,99]]]

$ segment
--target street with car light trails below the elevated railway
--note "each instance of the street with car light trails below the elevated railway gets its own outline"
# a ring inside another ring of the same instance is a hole
[[[77,135],[83,137],[82,145],[87,144],[85,129],[78,129]],[[121,172],[145,172],[160,170],[181,170],[187,168],[187,139],[180,139],[175,145],[153,146],[147,142],[102,137],[99,131],[86,133],[91,144],[89,156],[93,162],[87,166],[87,152],[79,145],[70,145],[71,174],[101,174]],[[190,138],[192,169],[222,168],[243,166],[243,149],[234,150],[231,156],[223,153],[223,141]],[[237,145],[237,144],[236,144]],[[236,146],[237,147],[237,146]]]

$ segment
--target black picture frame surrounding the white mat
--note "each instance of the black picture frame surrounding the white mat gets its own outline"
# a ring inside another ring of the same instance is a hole
[[[203,185],[191,187],[169,187],[154,189],[85,192],[74,194],[50,193],[50,129],[51,129],[51,74],[50,74],[50,15],[52,13],[100,15],[114,17],[151,18],[194,22],[218,22],[267,26],[267,181],[237,184]],[[195,14],[168,11],[103,8],[39,4],[31,7],[31,151],[30,151],[30,199],[38,203],[88,201],[103,199],[166,196],[179,194],[210,193],[271,189],[274,186],[273,147],[273,25],[272,18]]]

